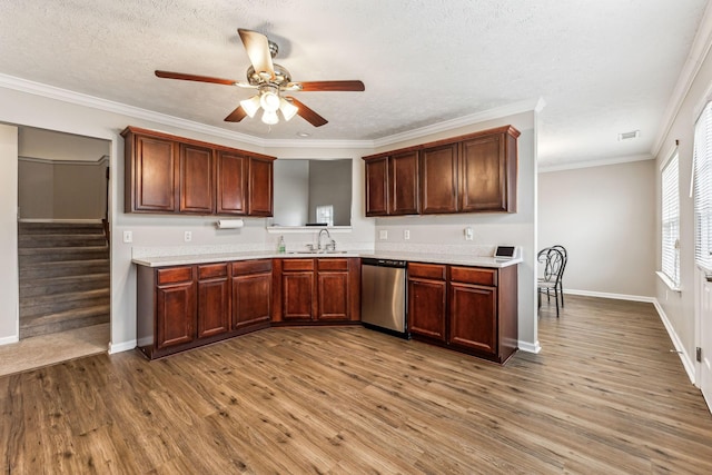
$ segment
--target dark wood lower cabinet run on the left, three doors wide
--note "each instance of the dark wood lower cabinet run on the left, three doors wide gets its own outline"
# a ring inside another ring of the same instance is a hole
[[[150,359],[268,327],[271,259],[138,266],[137,346]]]

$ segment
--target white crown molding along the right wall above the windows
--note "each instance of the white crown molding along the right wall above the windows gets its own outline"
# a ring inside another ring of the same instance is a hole
[[[704,58],[710,52],[710,48],[712,47],[712,3],[708,3],[704,14],[702,16],[702,20],[700,20],[700,26],[698,27],[698,32],[694,36],[694,40],[692,41],[692,48],[690,48],[690,52],[688,55],[688,59],[682,67],[682,71],[678,77],[678,82],[675,83],[675,88],[673,89],[673,93],[668,101],[668,107],[665,108],[665,112],[663,115],[662,127],[655,141],[653,142],[653,148],[651,149],[651,154],[656,157],[660,154],[661,148],[663,147],[664,140],[670,133],[672,129],[672,125],[678,118],[680,113],[680,109],[682,108],[682,103],[685,100],[685,97],[690,92],[690,88],[692,88],[692,83],[700,72],[700,68],[702,67],[702,62]]]

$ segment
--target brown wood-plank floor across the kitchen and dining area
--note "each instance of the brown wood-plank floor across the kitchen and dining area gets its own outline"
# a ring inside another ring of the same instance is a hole
[[[500,367],[360,327],[0,377],[7,474],[709,474],[712,416],[650,304],[544,308]]]

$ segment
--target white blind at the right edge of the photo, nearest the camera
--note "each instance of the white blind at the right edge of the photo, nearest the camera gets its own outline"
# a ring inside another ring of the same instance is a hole
[[[712,102],[694,126],[694,259],[712,269]]]

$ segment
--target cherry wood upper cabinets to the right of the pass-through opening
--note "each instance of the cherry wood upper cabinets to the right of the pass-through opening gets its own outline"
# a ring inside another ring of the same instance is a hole
[[[366,216],[516,212],[511,126],[364,157]]]

